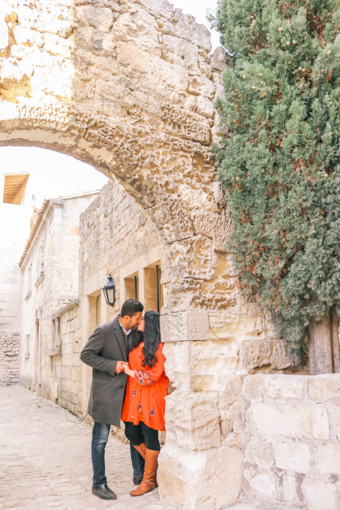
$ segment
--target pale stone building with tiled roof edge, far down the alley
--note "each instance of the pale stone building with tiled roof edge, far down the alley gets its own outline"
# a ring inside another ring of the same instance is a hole
[[[73,309],[78,297],[79,217],[96,193],[46,200],[19,262],[22,270],[21,367],[24,386],[78,411]]]

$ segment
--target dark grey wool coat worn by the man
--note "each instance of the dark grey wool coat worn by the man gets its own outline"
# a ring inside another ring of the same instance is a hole
[[[118,317],[97,327],[80,355],[81,360],[92,367],[87,412],[94,421],[117,427],[120,425],[127,375],[125,372],[116,374],[116,365],[119,360],[127,361],[128,338],[123,334]]]

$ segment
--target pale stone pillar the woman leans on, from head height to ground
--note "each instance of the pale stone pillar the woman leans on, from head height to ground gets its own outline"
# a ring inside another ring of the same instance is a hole
[[[166,399],[167,437],[158,471],[161,500],[186,510],[225,508],[239,498],[241,449],[223,442],[219,388],[206,380],[207,365],[214,363],[214,351],[211,359],[206,352],[208,313],[162,316],[161,335],[166,372],[175,387]]]

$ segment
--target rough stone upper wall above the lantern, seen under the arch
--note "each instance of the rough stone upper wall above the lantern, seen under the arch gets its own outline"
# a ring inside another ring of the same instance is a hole
[[[108,307],[108,313],[114,316],[122,304],[120,268],[161,244],[158,232],[138,203],[118,183],[108,183],[80,218],[80,297],[88,294],[86,288],[97,273],[104,275],[100,289],[111,272],[116,305],[113,310]]]

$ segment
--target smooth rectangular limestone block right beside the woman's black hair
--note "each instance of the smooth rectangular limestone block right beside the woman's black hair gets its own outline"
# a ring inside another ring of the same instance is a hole
[[[179,312],[161,316],[162,342],[208,339],[206,312]]]

